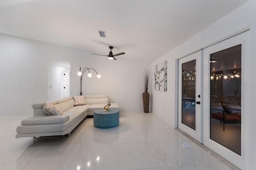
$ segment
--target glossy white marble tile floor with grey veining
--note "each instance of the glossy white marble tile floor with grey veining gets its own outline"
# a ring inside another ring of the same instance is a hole
[[[15,138],[31,115],[0,116],[1,170],[231,170],[152,113],[120,112],[120,124],[88,118],[69,138]]]

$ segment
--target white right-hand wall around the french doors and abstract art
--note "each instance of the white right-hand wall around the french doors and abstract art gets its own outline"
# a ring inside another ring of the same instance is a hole
[[[250,98],[250,108],[247,108],[246,114],[250,115],[250,121],[245,122],[247,125],[250,123],[248,131],[245,132],[245,147],[246,155],[243,169],[254,169],[256,166],[256,128],[254,127],[256,121],[256,114],[254,113],[254,101],[256,96],[256,75],[255,75],[255,63],[256,63],[256,1],[250,0],[243,6],[234,10],[218,22],[209,26],[207,29],[198,33],[196,36],[192,37],[188,41],[182,43],[172,51],[169,51],[162,57],[158,58],[156,61],[151,63],[151,67],[161,63],[165,60],[168,61],[168,82],[167,82],[167,92],[154,91],[152,88],[152,112],[158,117],[162,118],[166,123],[172,127],[177,127],[176,116],[176,95],[177,87],[175,80],[176,77],[176,61],[180,57],[184,57],[188,53],[191,53],[197,49],[202,49],[206,45],[212,44],[222,38],[228,37],[229,35],[236,33],[240,30],[250,27],[250,56],[246,56],[247,60],[250,60],[250,65],[247,65],[249,69],[250,79],[245,80],[245,83],[249,83],[250,88],[249,96]],[[151,81],[151,85],[154,85],[154,81]],[[246,90],[246,89],[245,89]],[[248,118],[248,117],[247,117]]]

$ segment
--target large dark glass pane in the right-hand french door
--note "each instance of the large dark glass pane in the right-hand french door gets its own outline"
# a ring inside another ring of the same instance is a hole
[[[210,138],[241,155],[242,45],[210,55]]]

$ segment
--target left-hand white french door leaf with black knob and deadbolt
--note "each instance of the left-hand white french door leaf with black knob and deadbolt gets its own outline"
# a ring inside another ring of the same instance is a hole
[[[201,51],[178,60],[178,128],[202,143]]]

